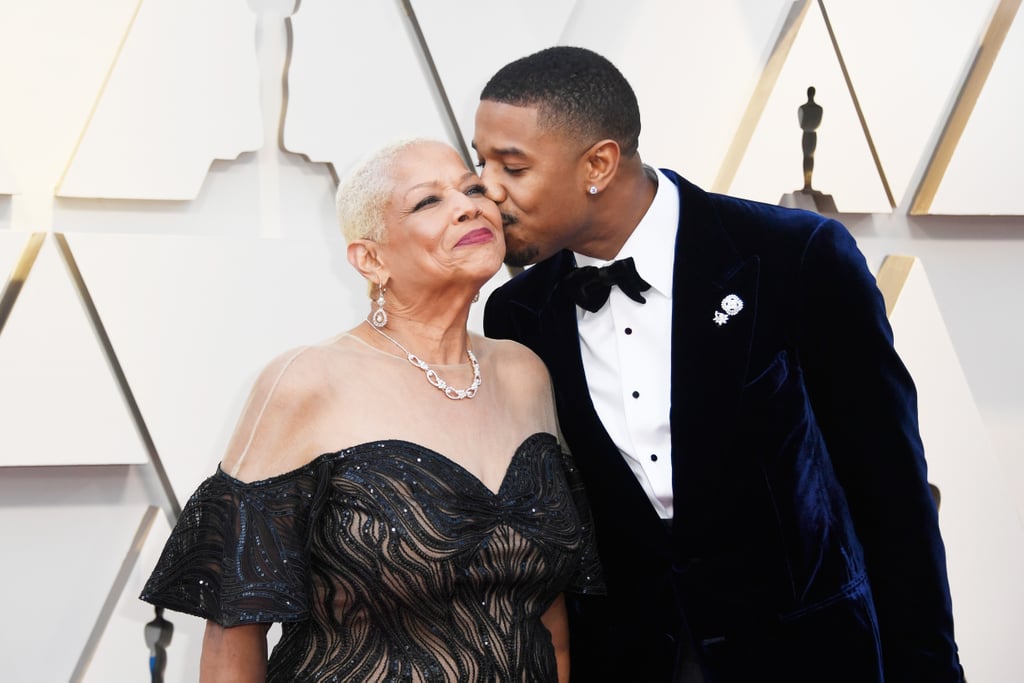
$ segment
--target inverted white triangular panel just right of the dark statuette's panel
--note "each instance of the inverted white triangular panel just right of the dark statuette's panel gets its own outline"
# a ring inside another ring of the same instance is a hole
[[[889,186],[899,202],[928,158],[991,2],[826,2]]]

